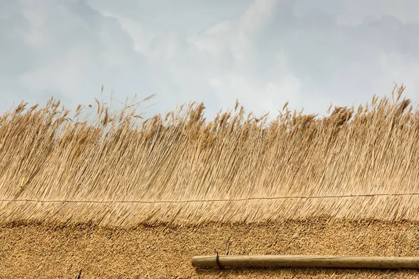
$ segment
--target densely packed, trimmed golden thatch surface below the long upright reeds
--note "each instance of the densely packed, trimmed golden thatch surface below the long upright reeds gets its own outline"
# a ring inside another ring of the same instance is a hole
[[[195,255],[419,256],[419,223],[284,221],[106,228],[0,227],[0,278],[418,278],[417,270],[196,270]],[[220,276],[221,273],[221,276]]]

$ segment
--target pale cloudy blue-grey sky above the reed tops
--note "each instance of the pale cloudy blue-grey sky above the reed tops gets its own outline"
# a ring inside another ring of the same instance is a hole
[[[390,96],[418,101],[416,0],[0,0],[0,113],[156,96],[277,116]],[[103,85],[103,93],[101,87]],[[128,101],[129,103],[129,101]]]

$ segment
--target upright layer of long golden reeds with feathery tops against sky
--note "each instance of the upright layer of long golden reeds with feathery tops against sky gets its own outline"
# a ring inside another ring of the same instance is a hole
[[[272,121],[238,103],[212,121],[203,104],[151,119],[22,104],[0,117],[0,222],[419,220],[419,111],[403,90]]]

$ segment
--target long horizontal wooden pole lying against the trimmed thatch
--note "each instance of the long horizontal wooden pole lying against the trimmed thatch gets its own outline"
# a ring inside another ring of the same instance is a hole
[[[332,267],[341,269],[419,269],[419,257],[351,256],[196,256],[196,268]]]

